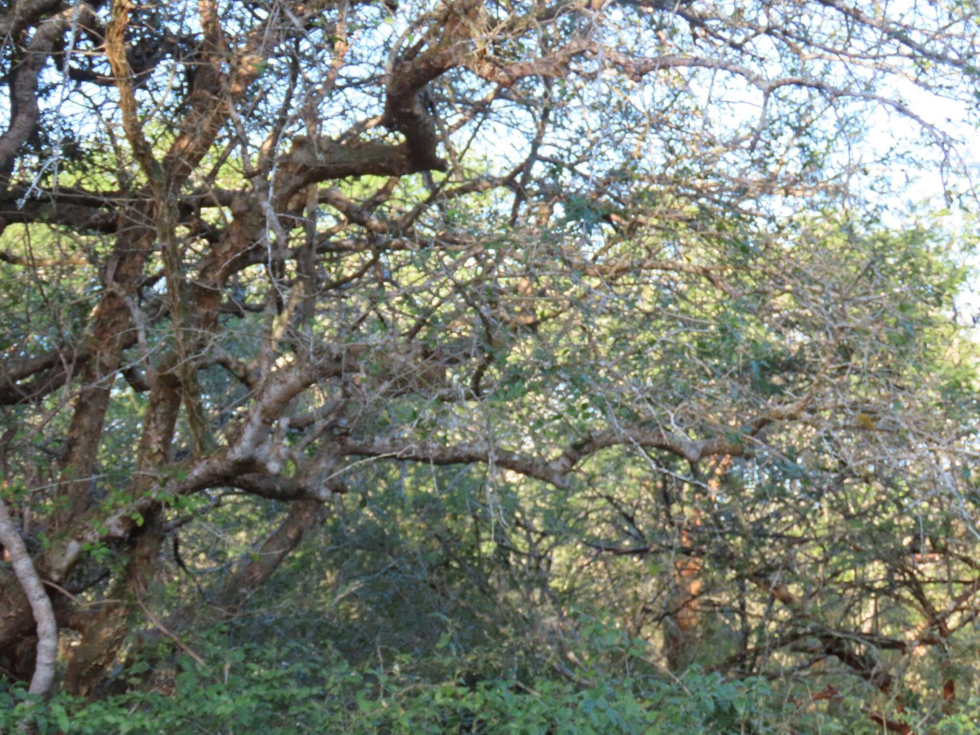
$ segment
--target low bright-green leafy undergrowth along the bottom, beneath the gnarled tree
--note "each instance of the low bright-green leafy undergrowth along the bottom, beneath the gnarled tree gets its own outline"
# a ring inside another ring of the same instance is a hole
[[[760,679],[725,680],[697,670],[680,679],[603,677],[481,679],[448,652],[352,666],[329,650],[216,646],[205,668],[187,657],[150,690],[86,702],[59,695],[31,705],[22,689],[0,691],[0,729],[27,721],[42,735],[201,732],[646,733],[772,732],[771,692]],[[143,666],[130,667],[138,677]],[[439,670],[443,677],[420,676]],[[135,679],[134,679],[135,680]]]

